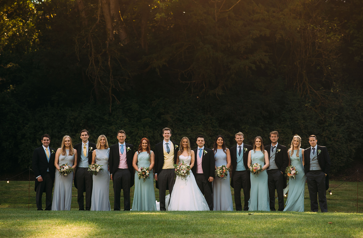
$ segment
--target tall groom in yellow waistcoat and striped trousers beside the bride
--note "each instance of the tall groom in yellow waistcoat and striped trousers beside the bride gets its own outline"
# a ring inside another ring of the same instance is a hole
[[[175,183],[175,168],[176,158],[179,151],[179,144],[170,141],[171,129],[163,129],[164,140],[155,145],[155,180],[156,188],[159,189],[160,211],[165,211],[165,193],[173,191]]]

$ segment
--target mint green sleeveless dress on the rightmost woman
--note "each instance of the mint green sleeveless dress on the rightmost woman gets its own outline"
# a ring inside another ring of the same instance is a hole
[[[299,156],[296,156],[296,150],[290,155],[291,165],[295,166],[299,172],[295,179],[289,180],[289,193],[287,194],[286,207],[284,211],[304,212],[304,194],[305,194],[305,171],[302,165],[302,149],[299,150]]]

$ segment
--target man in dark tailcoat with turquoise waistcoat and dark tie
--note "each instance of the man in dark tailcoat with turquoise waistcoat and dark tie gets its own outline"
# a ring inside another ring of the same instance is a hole
[[[234,202],[236,203],[236,211],[242,210],[241,203],[241,189],[243,188],[243,195],[245,204],[244,211],[248,211],[248,200],[250,198],[251,180],[250,171],[247,166],[248,152],[252,150],[252,146],[243,143],[245,139],[242,132],[234,135],[237,145],[229,148],[232,160],[232,179],[231,187],[234,188]]]

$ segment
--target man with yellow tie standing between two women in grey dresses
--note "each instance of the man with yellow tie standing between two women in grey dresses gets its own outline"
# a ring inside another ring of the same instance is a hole
[[[79,136],[82,142],[74,146],[74,149],[78,151],[74,187],[77,188],[79,210],[85,210],[83,192],[86,192],[86,210],[89,211],[91,209],[93,179],[92,174],[88,171],[88,166],[92,163],[92,151],[96,149],[96,144],[88,141],[90,136],[86,129],[81,130]]]

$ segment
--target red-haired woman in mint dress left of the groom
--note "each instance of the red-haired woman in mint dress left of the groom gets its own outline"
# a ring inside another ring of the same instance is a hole
[[[155,164],[154,152],[150,150],[150,141],[142,138],[139,149],[134,154],[132,167],[135,172],[135,192],[134,201],[132,202],[133,211],[156,211],[154,179],[152,177],[152,168]],[[149,167],[150,179],[139,179],[137,171],[140,167]]]

